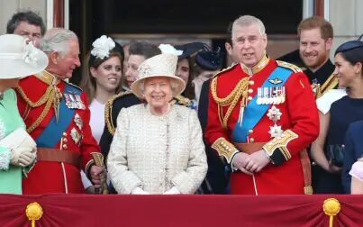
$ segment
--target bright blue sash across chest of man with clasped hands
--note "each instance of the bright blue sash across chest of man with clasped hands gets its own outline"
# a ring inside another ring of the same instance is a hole
[[[284,86],[287,79],[293,75],[293,71],[287,68],[277,67],[264,82],[261,87],[274,86],[268,80],[279,78],[282,80],[278,86]],[[246,142],[249,135],[249,130],[253,129],[262,117],[268,112],[270,104],[257,104],[258,95],[250,101],[244,108],[243,123],[237,122],[232,132],[232,141]]]

